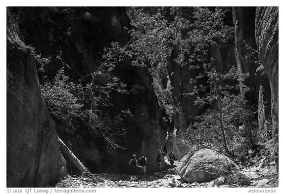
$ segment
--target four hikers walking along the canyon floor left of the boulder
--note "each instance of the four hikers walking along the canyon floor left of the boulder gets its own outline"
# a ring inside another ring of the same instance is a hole
[[[137,157],[136,155],[133,155],[130,162],[129,162],[129,165],[131,168],[131,181],[136,181],[137,174],[139,174],[140,179],[141,179],[141,176],[143,174],[143,179],[145,179],[147,159],[146,159],[145,155],[142,154],[142,156],[139,158],[139,164],[140,164],[139,165],[136,157]],[[159,171],[159,172],[161,172],[161,160],[162,160],[161,156],[158,153],[157,157],[155,159],[155,163],[156,163],[157,171]],[[175,160],[175,156],[174,156],[173,152],[170,151],[170,153],[168,155],[168,161],[170,162],[171,168],[173,168],[174,160]]]

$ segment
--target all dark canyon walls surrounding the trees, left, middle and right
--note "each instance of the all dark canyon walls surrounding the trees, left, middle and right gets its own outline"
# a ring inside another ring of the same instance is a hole
[[[12,19],[7,20],[7,187],[40,187],[64,176],[66,166],[55,132],[60,123],[54,126],[41,96],[39,82],[44,81],[45,75],[37,73],[35,53],[49,57],[48,79],[64,68],[71,79],[78,80],[99,68],[103,49],[111,41],[123,44],[129,38],[125,28],[130,21],[124,7],[19,9],[11,8],[13,13],[23,13],[17,20],[24,38]],[[235,38],[224,48],[211,46],[212,64],[220,72],[236,65],[240,72],[249,73],[246,84],[251,90],[247,96],[258,109],[260,131],[267,139],[273,136],[278,145],[278,7],[233,7],[232,15],[227,17],[233,18]],[[174,47],[167,64],[172,86],[172,125],[158,105],[151,75],[124,63],[113,74],[130,93],[112,92],[113,106],[104,110],[106,125],[111,129],[115,130],[117,116],[122,116],[126,135],[119,145],[124,149],[106,149],[104,140],[92,138],[84,128],[76,135],[58,133],[92,172],[128,174],[131,156],[142,153],[149,161],[147,170],[156,170],[155,157],[165,144],[167,130],[177,135],[187,129],[194,116],[203,113],[193,103],[195,96],[185,95],[192,91],[190,79],[196,73],[189,69],[190,64],[181,66],[174,61],[179,54],[178,46]],[[96,81],[104,82],[101,78]],[[179,155],[175,142],[167,143],[169,150]],[[276,153],[278,161],[278,146]]]

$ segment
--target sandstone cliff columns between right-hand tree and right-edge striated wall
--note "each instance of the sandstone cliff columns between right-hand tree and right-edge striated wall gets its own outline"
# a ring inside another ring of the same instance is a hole
[[[255,12],[256,7],[233,7],[237,68],[242,73],[249,73],[246,84],[250,91],[247,96],[252,104],[258,105],[260,132],[265,138],[271,139],[271,92],[268,76],[257,52],[255,21],[258,18],[255,18]]]

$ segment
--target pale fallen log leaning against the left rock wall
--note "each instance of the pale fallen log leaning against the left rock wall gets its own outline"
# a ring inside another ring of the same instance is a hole
[[[79,172],[82,174],[86,167],[81,163],[81,161],[69,150],[69,148],[64,144],[64,142],[57,136],[59,149],[63,155],[63,157],[70,160],[71,164],[76,167]]]

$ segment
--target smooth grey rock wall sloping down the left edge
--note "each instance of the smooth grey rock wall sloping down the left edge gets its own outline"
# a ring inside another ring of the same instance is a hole
[[[44,187],[66,175],[41,95],[34,52],[7,10],[7,187]]]

